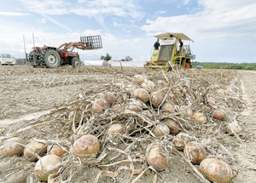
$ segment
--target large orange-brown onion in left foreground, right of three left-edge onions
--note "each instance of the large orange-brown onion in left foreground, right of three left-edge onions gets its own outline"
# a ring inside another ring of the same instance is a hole
[[[73,154],[84,157],[96,157],[100,150],[100,142],[96,136],[85,134],[73,143]]]

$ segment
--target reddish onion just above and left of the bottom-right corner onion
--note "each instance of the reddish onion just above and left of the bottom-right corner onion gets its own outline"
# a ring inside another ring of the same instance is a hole
[[[189,142],[184,148],[184,154],[192,164],[200,164],[207,157],[207,150],[200,143]]]

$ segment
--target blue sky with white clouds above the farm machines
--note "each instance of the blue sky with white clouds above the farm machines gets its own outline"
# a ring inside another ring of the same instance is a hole
[[[39,47],[100,34],[103,49],[76,50],[81,60],[146,61],[154,35],[182,32],[197,61],[256,62],[255,9],[255,0],[0,0],[0,52],[25,57],[32,33]]]

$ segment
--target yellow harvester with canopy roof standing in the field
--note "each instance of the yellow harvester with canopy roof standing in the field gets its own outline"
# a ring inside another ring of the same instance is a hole
[[[192,39],[183,33],[170,33],[156,35],[160,39],[160,49],[154,49],[151,60],[145,63],[148,68],[162,68],[164,71],[172,70],[173,66],[181,66],[183,68],[191,68],[191,60],[195,59],[190,49],[190,41]],[[188,45],[184,45],[189,42]]]

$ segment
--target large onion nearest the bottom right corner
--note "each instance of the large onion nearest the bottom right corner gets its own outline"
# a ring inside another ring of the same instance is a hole
[[[207,180],[212,182],[228,183],[233,178],[230,165],[215,158],[204,159],[200,163],[200,171]]]

